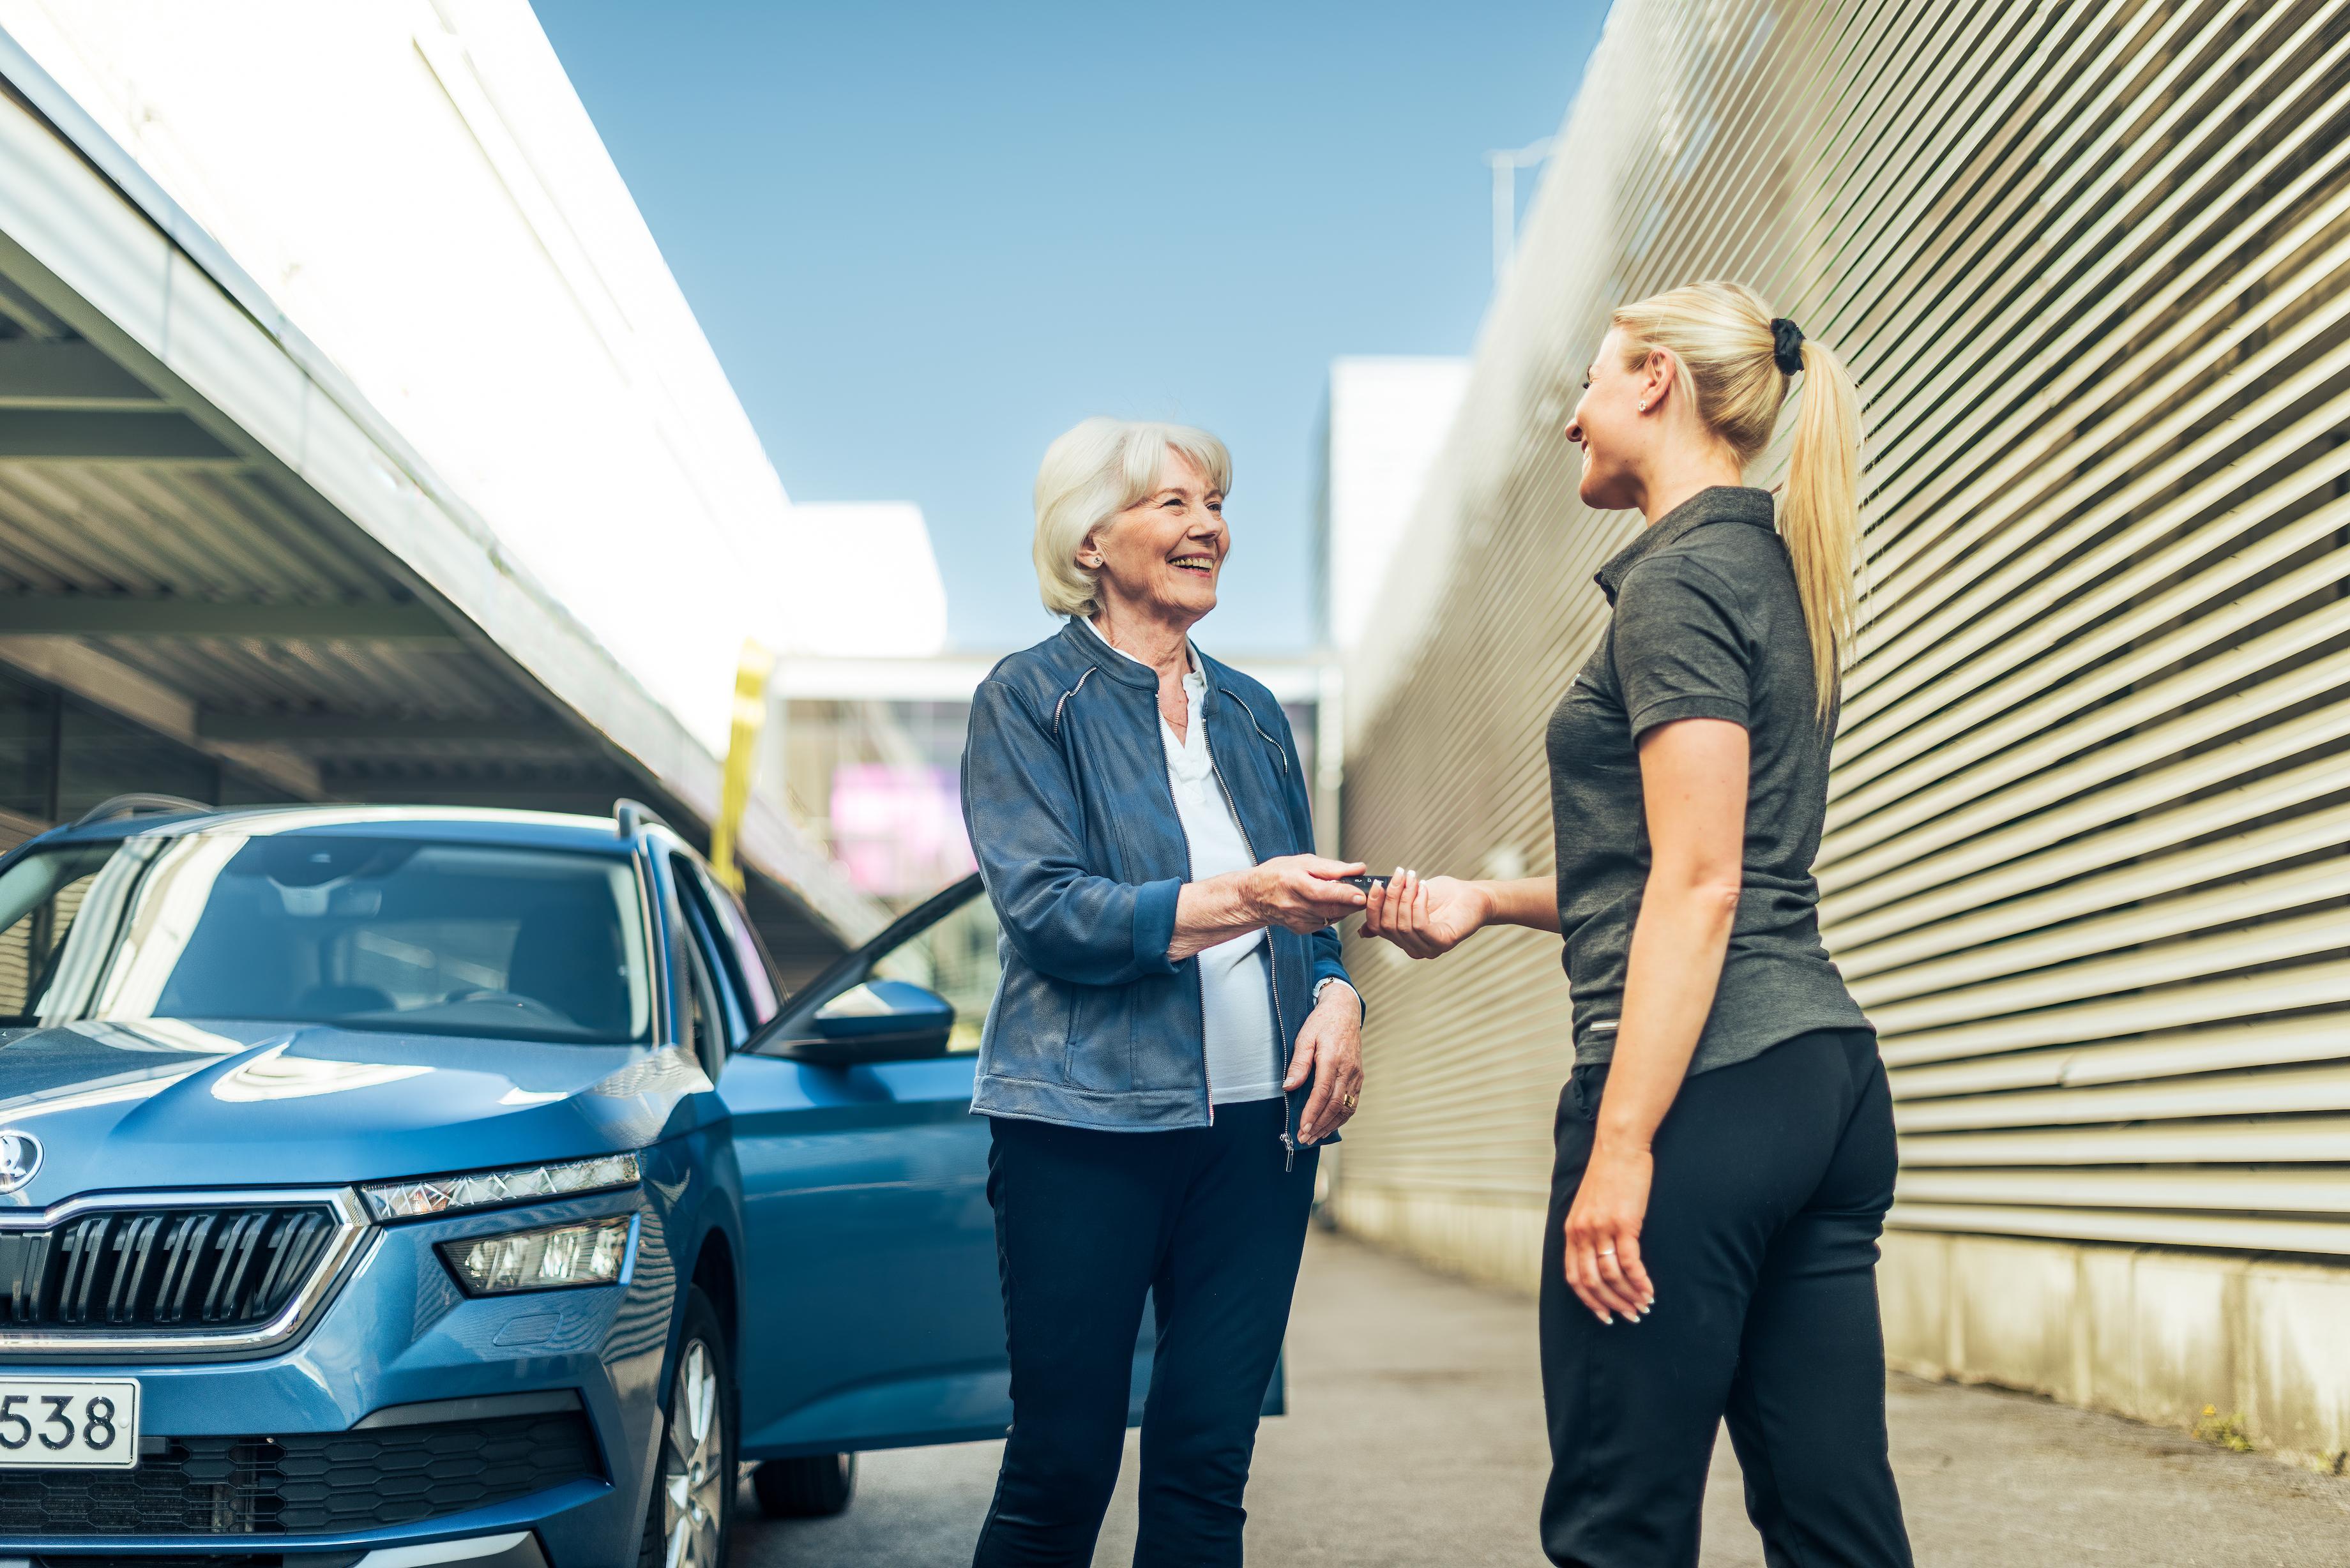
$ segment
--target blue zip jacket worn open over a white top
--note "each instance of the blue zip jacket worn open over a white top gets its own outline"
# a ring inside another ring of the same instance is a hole
[[[1314,849],[1304,766],[1274,693],[1198,654],[1215,773],[1257,860]],[[971,1107],[1147,1133],[1206,1126],[1198,959],[1168,961],[1191,879],[1159,738],[1159,677],[1074,621],[1013,654],[971,698],[964,820],[1003,926],[1003,978]],[[1344,980],[1337,933],[1267,931],[1281,1063]],[[1304,1091],[1288,1098],[1295,1152]]]

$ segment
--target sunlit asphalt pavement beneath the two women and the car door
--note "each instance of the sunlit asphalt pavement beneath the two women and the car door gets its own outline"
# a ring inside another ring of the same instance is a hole
[[[1535,1312],[1314,1237],[1290,1326],[1290,1415],[1248,1490],[1260,1566],[1542,1568],[1549,1462]],[[2350,1568],[2350,1481],[2000,1389],[1894,1378],[1894,1469],[1920,1568]],[[839,1519],[757,1516],[733,1568],[961,1568],[1001,1443],[874,1453]],[[1133,1561],[1133,1434],[1097,1568]],[[1730,1443],[1704,1568],[1762,1568]]]

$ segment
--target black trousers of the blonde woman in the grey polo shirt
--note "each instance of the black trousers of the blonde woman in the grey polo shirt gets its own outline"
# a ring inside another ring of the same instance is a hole
[[[1638,1324],[1600,1324],[1565,1281],[1563,1232],[1605,1077],[1577,1067],[1558,1103],[1542,1253],[1544,1552],[1577,1568],[1694,1568],[1727,1418],[1772,1568],[1908,1568],[1885,1455],[1875,1267],[1894,1114],[1875,1039],[1800,1034],[1680,1086],[1657,1128],[1640,1225],[1657,1305]]]

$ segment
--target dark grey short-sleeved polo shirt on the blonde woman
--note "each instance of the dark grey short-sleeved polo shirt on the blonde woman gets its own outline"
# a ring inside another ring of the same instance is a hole
[[[1598,585],[1614,616],[1546,736],[1574,1060],[1614,1053],[1650,867],[1636,745],[1673,719],[1730,719],[1748,738],[1744,886],[1690,1072],[1812,1030],[1866,1030],[1819,943],[1812,858],[1835,724],[1814,717],[1812,642],[1770,494],[1699,491],[1640,529]]]

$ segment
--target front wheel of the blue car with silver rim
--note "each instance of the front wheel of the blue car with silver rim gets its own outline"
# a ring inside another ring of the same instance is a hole
[[[733,1455],[736,1385],[726,1335],[710,1298],[698,1286],[686,1286],[637,1568],[726,1568],[733,1542]]]

